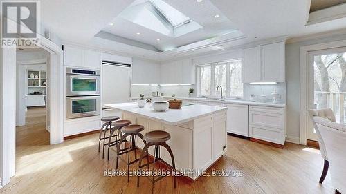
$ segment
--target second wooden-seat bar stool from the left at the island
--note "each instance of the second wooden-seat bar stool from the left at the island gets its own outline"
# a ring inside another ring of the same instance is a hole
[[[120,120],[120,121],[113,122],[111,124],[113,128],[111,128],[111,135],[110,135],[110,138],[108,139],[108,144],[107,144],[108,145],[108,151],[107,151],[108,160],[109,160],[109,150],[117,152],[118,142],[120,141],[120,137],[121,137],[120,130],[125,126],[129,126],[130,124],[131,124],[131,121],[129,120]],[[114,140],[112,139],[112,137],[116,137],[116,139]]]

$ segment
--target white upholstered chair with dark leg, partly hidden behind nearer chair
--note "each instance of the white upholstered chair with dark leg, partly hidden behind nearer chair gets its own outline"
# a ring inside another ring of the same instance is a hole
[[[330,108],[320,109],[320,110],[309,109],[309,110],[307,110],[307,112],[308,112],[309,116],[311,117],[311,120],[313,122],[313,127],[316,130],[316,135],[318,137],[318,145],[320,146],[321,156],[325,160],[322,175],[320,177],[320,183],[322,183],[325,180],[325,177],[327,175],[328,168],[329,168],[329,162],[328,162],[328,157],[327,157],[327,151],[325,149],[325,143],[323,142],[323,139],[320,135],[320,131],[318,130],[318,128],[316,126],[316,123],[313,121],[313,117],[323,117],[325,119],[329,119],[331,122],[335,122],[336,119],[335,119],[335,115],[333,113],[333,110],[331,110]]]

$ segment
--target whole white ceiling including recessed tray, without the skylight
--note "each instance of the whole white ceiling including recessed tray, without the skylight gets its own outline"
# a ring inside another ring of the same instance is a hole
[[[63,42],[157,60],[223,50],[273,37],[290,39],[346,28],[345,17],[306,26],[311,0],[163,1],[203,28],[170,37],[119,17],[133,0],[42,1],[42,21]],[[219,17],[215,18],[215,14]]]

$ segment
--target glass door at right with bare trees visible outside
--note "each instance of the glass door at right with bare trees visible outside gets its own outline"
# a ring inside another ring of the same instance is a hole
[[[345,122],[346,48],[308,53],[307,104],[309,109],[331,108],[336,122]],[[318,141],[307,115],[307,139]]]

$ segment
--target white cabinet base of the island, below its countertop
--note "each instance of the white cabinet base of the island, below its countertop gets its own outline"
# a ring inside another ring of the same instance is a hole
[[[156,122],[138,115],[122,113],[123,119],[131,120],[133,124],[145,127],[141,133],[152,130],[165,130],[171,138],[167,144],[172,149],[176,169],[195,169],[205,171],[213,162],[226,152],[226,111],[200,117],[178,126]],[[137,146],[143,148],[143,142],[137,137]],[[149,154],[154,155],[154,146],[149,148]],[[172,165],[170,154],[160,147],[161,158]],[[188,175],[195,179],[198,175]]]

